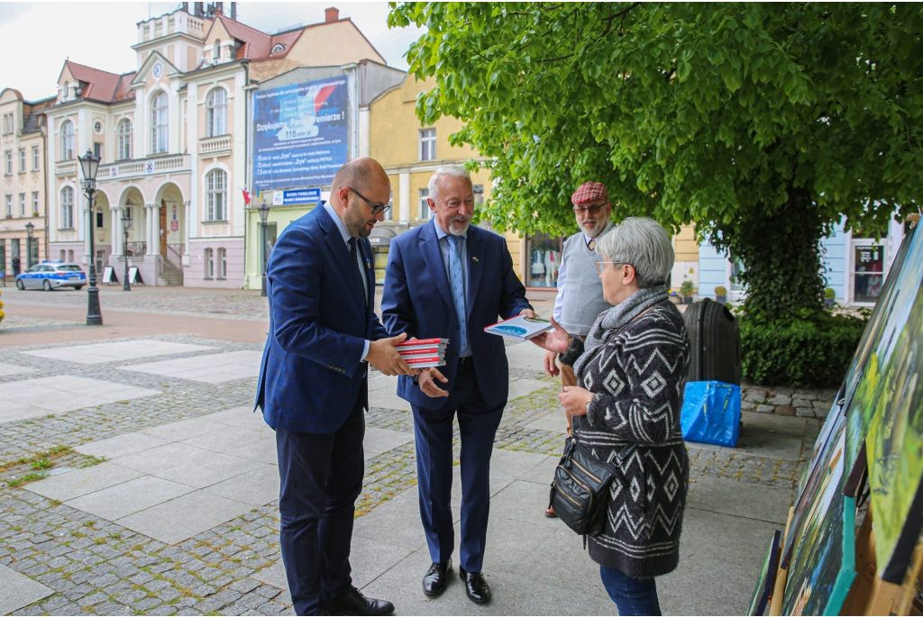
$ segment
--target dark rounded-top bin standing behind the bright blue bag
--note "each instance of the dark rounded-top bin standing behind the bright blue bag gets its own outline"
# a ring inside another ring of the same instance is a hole
[[[730,310],[705,298],[690,304],[683,318],[691,350],[686,381],[740,386],[740,326]]]

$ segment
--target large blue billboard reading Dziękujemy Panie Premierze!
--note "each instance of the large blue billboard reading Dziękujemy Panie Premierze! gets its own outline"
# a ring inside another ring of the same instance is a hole
[[[330,184],[349,157],[348,112],[345,76],[258,90],[254,186],[265,191]]]

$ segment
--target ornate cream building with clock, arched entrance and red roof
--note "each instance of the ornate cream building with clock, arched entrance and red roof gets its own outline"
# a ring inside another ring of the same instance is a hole
[[[249,91],[293,63],[380,55],[336,9],[324,23],[268,34],[224,16],[220,3],[192,13],[184,3],[137,29],[137,71],[67,61],[58,77],[46,110],[50,255],[93,259],[114,277],[127,260],[148,285],[242,288]],[[88,150],[102,158],[92,213],[77,160]]]

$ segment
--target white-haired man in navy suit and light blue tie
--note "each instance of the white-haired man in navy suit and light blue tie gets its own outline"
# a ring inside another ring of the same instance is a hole
[[[424,593],[442,593],[451,570],[452,418],[457,414],[462,436],[459,574],[468,598],[481,603],[490,599],[481,571],[490,455],[509,394],[503,338],[484,328],[534,313],[503,238],[469,224],[474,191],[468,172],[438,169],[429,181],[427,204],[433,220],[391,241],[381,314],[392,334],[450,339],[442,370],[401,377],[398,395],[414,410],[420,516],[433,562],[423,578]]]

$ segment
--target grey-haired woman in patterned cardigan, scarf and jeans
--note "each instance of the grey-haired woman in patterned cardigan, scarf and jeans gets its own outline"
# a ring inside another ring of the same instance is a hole
[[[585,341],[557,324],[533,341],[573,362],[577,386],[558,397],[574,416],[578,443],[610,462],[635,446],[612,484],[605,530],[589,539],[590,557],[619,615],[659,615],[653,577],[677,567],[689,486],[679,428],[689,339],[666,290],[674,253],[663,227],[626,219],[596,252],[605,300],[614,306]]]

